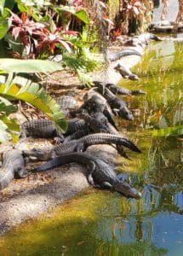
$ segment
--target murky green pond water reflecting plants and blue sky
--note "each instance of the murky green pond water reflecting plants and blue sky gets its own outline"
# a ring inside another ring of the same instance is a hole
[[[151,44],[124,87],[135,119],[117,119],[143,154],[118,159],[140,200],[90,189],[0,239],[0,255],[183,255],[183,44]],[[123,165],[122,165],[123,164]]]

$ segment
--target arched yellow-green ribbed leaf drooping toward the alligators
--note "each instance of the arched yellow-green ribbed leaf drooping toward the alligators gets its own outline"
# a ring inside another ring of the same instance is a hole
[[[1,77],[3,76],[0,76],[0,79]],[[66,131],[67,124],[60,106],[51,96],[46,94],[40,84],[32,83],[30,79],[20,76],[12,77],[12,74],[9,74],[8,78],[5,77],[5,79],[6,83],[0,84],[0,96],[29,102],[32,106],[42,110],[49,119],[54,120],[62,131]]]

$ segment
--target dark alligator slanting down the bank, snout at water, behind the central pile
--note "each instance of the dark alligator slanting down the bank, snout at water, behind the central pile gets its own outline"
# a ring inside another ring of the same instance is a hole
[[[100,90],[100,86],[98,87]],[[103,91],[103,85],[101,86],[101,90]],[[129,108],[127,108],[127,105],[125,102],[123,102],[122,99],[117,98],[117,96],[115,96],[111,90],[107,89],[105,87],[104,90],[104,96],[107,100],[107,102],[109,103],[110,107],[112,108],[112,111],[114,113],[116,113],[117,115],[119,115],[120,117],[122,117],[123,119],[128,119],[128,120],[133,120],[134,116],[131,113],[131,111],[129,110]]]

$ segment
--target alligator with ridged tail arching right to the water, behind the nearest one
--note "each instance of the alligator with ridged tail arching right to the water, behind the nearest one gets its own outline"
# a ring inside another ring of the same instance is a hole
[[[36,157],[37,160],[49,160],[62,154],[68,154],[71,152],[83,152],[89,146],[95,144],[116,144],[122,145],[130,150],[140,153],[140,149],[137,148],[134,143],[129,139],[117,136],[110,133],[94,133],[85,137],[81,137],[78,140],[72,140],[68,143],[63,143],[53,148],[32,148],[31,150],[23,150],[24,156]],[[120,152],[119,152],[120,154]]]

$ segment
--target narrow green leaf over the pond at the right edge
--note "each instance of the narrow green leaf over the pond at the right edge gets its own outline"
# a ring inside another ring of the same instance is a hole
[[[183,125],[152,131],[153,137],[168,137],[168,136],[180,136],[180,135],[183,135]]]

